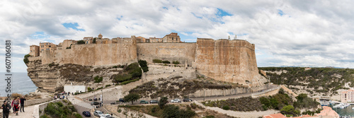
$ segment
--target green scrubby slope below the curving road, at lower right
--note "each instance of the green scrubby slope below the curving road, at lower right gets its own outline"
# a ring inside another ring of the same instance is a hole
[[[209,107],[219,107],[224,110],[234,110],[234,111],[264,111],[264,110],[280,110],[283,114],[289,114],[289,116],[299,116],[299,109],[302,108],[316,108],[319,102],[307,98],[306,94],[300,94],[297,97],[297,101],[292,100],[289,95],[287,95],[284,90],[280,88],[279,93],[261,98],[233,98],[227,100],[216,100],[216,101],[205,101],[202,102],[203,105]],[[317,110],[319,111],[319,110]],[[316,111],[316,112],[317,112]],[[311,111],[304,112],[303,114],[311,113]]]

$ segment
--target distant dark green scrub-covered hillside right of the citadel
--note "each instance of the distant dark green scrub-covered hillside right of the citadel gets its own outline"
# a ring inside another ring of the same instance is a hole
[[[290,89],[299,90],[292,85],[300,85],[309,93],[323,93],[324,95],[338,94],[336,90],[348,89],[345,84],[354,87],[354,69],[312,68],[307,71],[302,67],[261,67],[263,71],[287,71],[280,75],[267,72],[271,83],[287,85]]]

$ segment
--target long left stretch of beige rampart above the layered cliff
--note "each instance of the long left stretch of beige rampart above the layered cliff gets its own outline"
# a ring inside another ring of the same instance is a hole
[[[72,45],[71,49],[40,53],[42,64],[80,64],[85,66],[130,64],[137,61],[137,42],[130,38],[118,43]]]

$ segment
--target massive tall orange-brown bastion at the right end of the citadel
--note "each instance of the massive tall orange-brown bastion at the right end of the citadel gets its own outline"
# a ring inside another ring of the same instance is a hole
[[[261,86],[254,45],[246,40],[198,39],[195,64],[198,73],[254,87]]]

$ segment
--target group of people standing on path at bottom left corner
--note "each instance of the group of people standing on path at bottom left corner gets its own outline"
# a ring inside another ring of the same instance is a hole
[[[14,100],[12,100],[11,105],[8,104],[8,102],[6,102],[6,100],[4,101],[4,104],[1,105],[1,109],[3,109],[3,118],[8,118],[8,114],[10,114],[10,110],[13,110],[13,113],[18,115],[18,110],[20,110],[20,112],[25,112],[25,98],[15,98]]]

